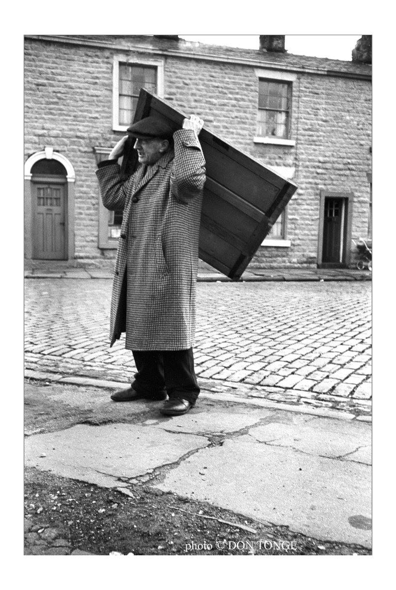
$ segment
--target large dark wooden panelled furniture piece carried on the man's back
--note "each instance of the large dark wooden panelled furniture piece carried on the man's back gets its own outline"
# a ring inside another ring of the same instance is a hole
[[[149,115],[175,131],[188,117],[148,90],[140,90],[134,123]],[[297,186],[205,127],[199,133],[205,156],[199,257],[238,280],[282,213]],[[130,153],[129,173],[137,159]]]

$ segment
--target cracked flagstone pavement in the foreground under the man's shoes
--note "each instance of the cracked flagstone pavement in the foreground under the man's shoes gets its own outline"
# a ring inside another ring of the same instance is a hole
[[[117,386],[27,383],[26,466],[127,495],[150,486],[371,548],[369,424],[211,391],[188,414],[163,417],[161,402],[111,402]]]

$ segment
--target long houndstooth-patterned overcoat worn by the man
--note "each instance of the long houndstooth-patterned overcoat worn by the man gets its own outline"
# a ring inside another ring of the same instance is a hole
[[[104,207],[124,211],[110,346],[122,332],[130,350],[185,350],[194,341],[205,159],[192,130],[176,131],[174,144],[125,182],[109,160],[96,172]]]

